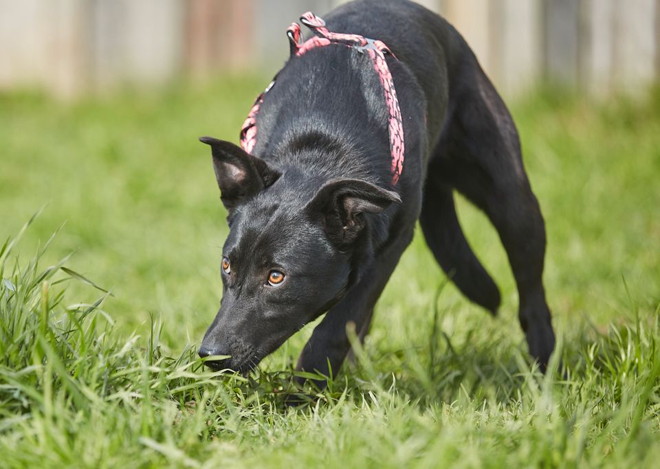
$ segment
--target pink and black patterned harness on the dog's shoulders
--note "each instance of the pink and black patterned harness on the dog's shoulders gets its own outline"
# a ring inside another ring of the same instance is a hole
[[[289,43],[291,45],[292,56],[300,57],[305,52],[314,49],[315,47],[324,47],[331,44],[340,44],[353,49],[358,49],[360,52],[366,52],[373,60],[373,67],[378,73],[380,83],[383,86],[385,94],[385,104],[389,113],[388,130],[390,135],[390,152],[392,154],[392,184],[396,185],[401,176],[401,171],[404,169],[404,126],[401,119],[401,109],[399,108],[399,100],[397,100],[397,91],[394,88],[394,80],[392,73],[387,66],[385,54],[394,54],[388,49],[382,41],[374,41],[367,39],[358,34],[342,34],[330,32],[325,27],[325,21],[320,19],[312,12],[307,12],[300,16],[300,21],[313,32],[320,34],[320,36],[313,36],[307,41],[303,38],[303,33],[300,31],[298,23],[292,23],[287,29],[287,36],[289,36]],[[248,118],[243,122],[241,128],[241,147],[248,153],[251,153],[256,144],[256,115],[259,113],[263,97],[275,84],[273,80],[268,87],[261,93],[256,100]]]

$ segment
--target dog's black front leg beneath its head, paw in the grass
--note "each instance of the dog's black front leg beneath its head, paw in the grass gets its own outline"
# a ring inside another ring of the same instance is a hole
[[[388,242],[378,253],[360,282],[316,326],[298,358],[298,369],[316,371],[325,376],[337,373],[351,349],[347,325],[354,323],[357,332],[366,330],[373,306],[411,240],[412,229],[406,233],[397,233],[396,239]],[[326,382],[317,381],[316,385],[322,388]]]

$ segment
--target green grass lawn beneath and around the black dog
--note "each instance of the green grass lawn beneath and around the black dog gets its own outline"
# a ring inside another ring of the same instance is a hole
[[[547,222],[549,374],[529,364],[496,233],[461,200],[500,315],[445,284],[418,233],[357,363],[290,409],[311,325],[247,378],[195,356],[227,233],[197,137],[235,140],[262,85],[0,96],[1,467],[654,466],[659,91],[513,106]]]

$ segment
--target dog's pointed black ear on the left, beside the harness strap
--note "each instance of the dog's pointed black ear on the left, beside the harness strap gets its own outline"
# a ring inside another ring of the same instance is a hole
[[[211,146],[215,177],[227,209],[272,185],[281,174],[263,159],[253,157],[228,141],[213,137],[199,137],[199,141]]]

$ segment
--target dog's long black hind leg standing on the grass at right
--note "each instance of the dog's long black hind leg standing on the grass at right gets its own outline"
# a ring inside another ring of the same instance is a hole
[[[438,170],[429,179],[442,178],[465,194],[497,229],[518,286],[518,317],[529,352],[544,369],[555,345],[542,284],[544,220],[522,165],[513,119],[476,62],[461,86],[469,92],[456,93],[432,163]],[[445,211],[450,214],[446,222],[454,225],[452,211]]]

